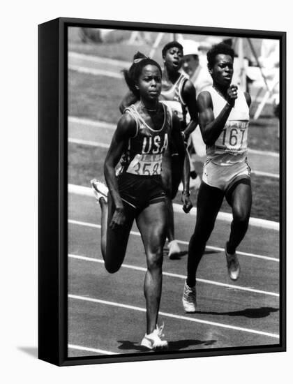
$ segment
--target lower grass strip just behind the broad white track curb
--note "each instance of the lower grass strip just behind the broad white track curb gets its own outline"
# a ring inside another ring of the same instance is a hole
[[[68,182],[82,186],[90,186],[89,181],[96,177],[104,179],[103,164],[107,149],[89,147],[87,145],[69,143],[68,150]],[[202,172],[200,163],[195,168]],[[252,175],[253,207],[251,216],[260,219],[279,221],[279,182],[271,177]],[[196,206],[197,192],[191,191],[193,205]],[[181,193],[177,193],[174,202],[181,203]],[[222,212],[231,212],[226,201],[223,202]]]

